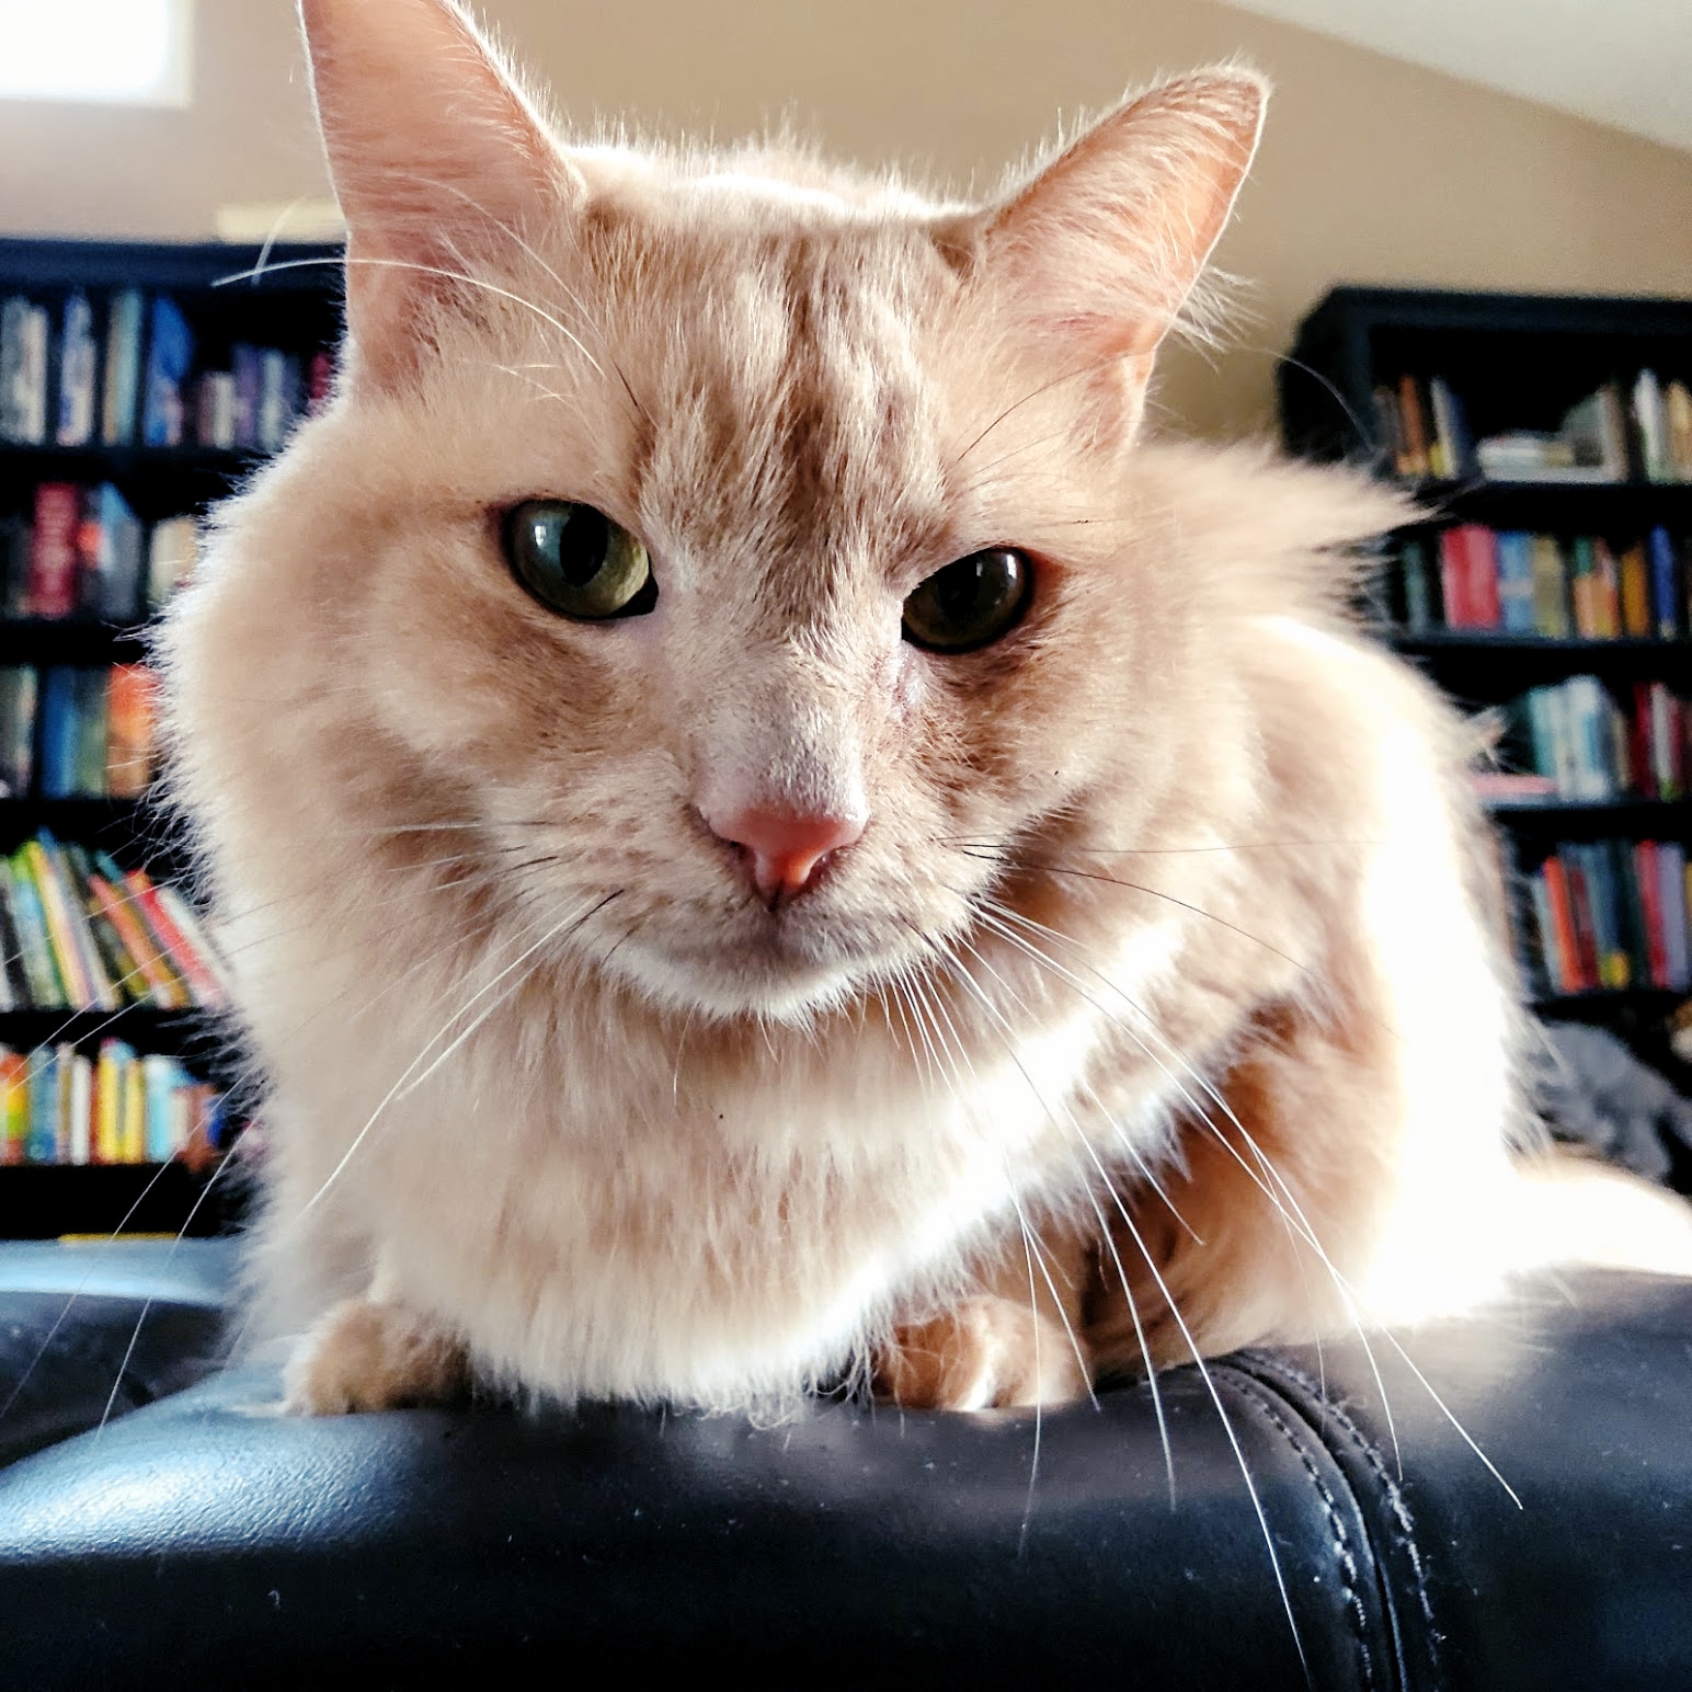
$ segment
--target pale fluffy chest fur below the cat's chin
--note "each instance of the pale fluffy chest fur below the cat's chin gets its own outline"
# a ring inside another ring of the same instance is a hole
[[[369,1269],[472,1335],[491,1376],[706,1404],[778,1403],[861,1359],[895,1301],[944,1299],[1051,1184],[1096,1036],[1069,1015],[971,1049],[953,1022],[919,1059],[873,1020],[734,1051],[624,1025],[607,1051],[594,1019],[528,1005],[372,1095],[360,1078],[428,1049],[406,1020],[294,1042],[281,1208],[321,1193],[328,1228],[357,1218]]]

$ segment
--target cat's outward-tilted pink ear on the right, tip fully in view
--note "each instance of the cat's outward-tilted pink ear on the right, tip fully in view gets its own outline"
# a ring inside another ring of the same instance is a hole
[[[941,244],[1069,355],[1149,374],[1228,222],[1267,98],[1262,76],[1235,68],[1162,83]]]

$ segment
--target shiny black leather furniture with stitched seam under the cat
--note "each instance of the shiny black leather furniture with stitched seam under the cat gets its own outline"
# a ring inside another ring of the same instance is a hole
[[[96,1261],[68,1315],[88,1254],[52,1250],[0,1249],[0,1396],[58,1321],[0,1420],[0,1687],[1692,1687],[1692,1283],[1530,1288],[1408,1337],[1425,1381],[1381,1342],[1230,1357],[1225,1423],[1173,1371],[1166,1467],[1145,1386],[296,1421],[206,1372],[217,1244]]]

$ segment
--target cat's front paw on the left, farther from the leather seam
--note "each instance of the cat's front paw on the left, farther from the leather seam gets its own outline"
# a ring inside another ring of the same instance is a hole
[[[455,1404],[470,1394],[464,1345],[404,1305],[349,1298],[306,1337],[283,1377],[293,1416]]]

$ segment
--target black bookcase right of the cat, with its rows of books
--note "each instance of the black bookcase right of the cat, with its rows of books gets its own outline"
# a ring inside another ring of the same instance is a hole
[[[1553,788],[1486,800],[1536,1007],[1609,1025],[1682,1086],[1689,384],[1692,301],[1403,288],[1333,289],[1279,371],[1289,450],[1423,506],[1384,545],[1381,636]]]

